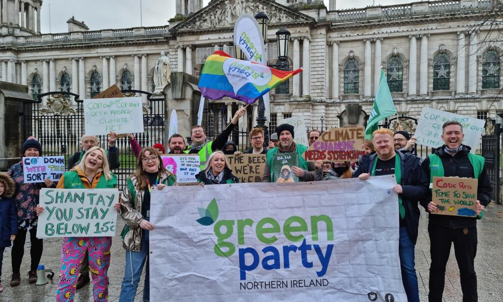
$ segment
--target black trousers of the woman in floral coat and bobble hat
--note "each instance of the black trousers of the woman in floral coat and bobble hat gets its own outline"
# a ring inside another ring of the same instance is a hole
[[[21,262],[23,262],[23,255],[25,253],[25,242],[26,233],[28,231],[24,229],[18,229],[18,235],[12,245],[12,272],[14,274],[19,274],[21,267]],[[42,239],[37,238],[37,228],[30,229],[30,256],[31,265],[30,270],[36,271],[38,264],[40,263],[40,258],[42,258],[42,251],[44,249],[44,244]]]

